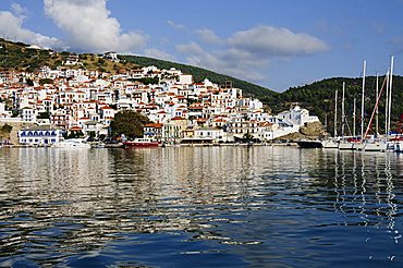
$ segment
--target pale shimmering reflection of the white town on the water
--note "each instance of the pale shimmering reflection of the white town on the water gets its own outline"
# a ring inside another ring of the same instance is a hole
[[[200,237],[210,237],[204,217],[215,206],[244,209],[267,149],[2,149],[0,232],[15,231],[2,236],[1,256],[36,240],[60,254],[94,249],[122,232],[207,229]]]

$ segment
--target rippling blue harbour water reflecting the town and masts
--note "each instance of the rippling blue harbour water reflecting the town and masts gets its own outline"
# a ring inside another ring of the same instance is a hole
[[[1,149],[0,266],[399,264],[402,174],[290,147]]]

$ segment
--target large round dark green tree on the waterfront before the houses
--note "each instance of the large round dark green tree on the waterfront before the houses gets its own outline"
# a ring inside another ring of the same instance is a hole
[[[144,134],[143,127],[149,122],[147,117],[138,112],[120,111],[110,124],[110,134],[112,136],[124,134],[127,138],[142,137]]]

